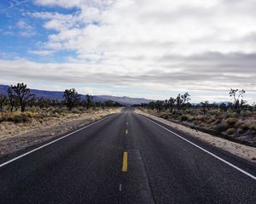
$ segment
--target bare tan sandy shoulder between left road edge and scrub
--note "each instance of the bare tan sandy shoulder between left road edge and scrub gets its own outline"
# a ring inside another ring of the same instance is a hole
[[[55,136],[67,133],[103,116],[120,112],[122,108],[99,111],[86,111],[81,114],[70,113],[67,116],[47,117],[43,120],[32,119],[29,122],[0,123],[0,156],[22,150],[32,144],[38,144]]]

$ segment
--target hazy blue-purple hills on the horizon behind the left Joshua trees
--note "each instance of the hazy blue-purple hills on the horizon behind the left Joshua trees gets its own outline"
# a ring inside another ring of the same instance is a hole
[[[0,85],[0,94],[7,94],[6,91],[9,88],[7,85]],[[61,91],[44,91],[38,89],[31,89],[31,93],[35,94],[38,98],[44,97],[44,99],[63,99]],[[81,98],[84,99],[84,95],[81,95]],[[143,99],[143,98],[130,98],[130,97],[119,97],[119,96],[111,96],[111,95],[95,95],[94,101],[95,102],[104,102],[107,100],[113,100],[118,102],[121,105],[135,105],[141,103],[149,103],[150,99]]]

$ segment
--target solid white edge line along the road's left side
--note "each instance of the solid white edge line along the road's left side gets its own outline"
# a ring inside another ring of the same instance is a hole
[[[110,116],[104,117],[104,118],[102,118],[102,119],[99,120],[99,121],[93,122],[93,123],[91,123],[91,124],[89,124],[89,125],[87,125],[87,126],[85,126],[85,127],[81,127],[81,128],[79,128],[78,130],[73,131],[72,133],[68,133],[68,134],[62,136],[62,137],[59,138],[59,139],[55,139],[55,140],[53,140],[53,141],[51,141],[51,142],[49,142],[49,143],[47,143],[47,144],[44,144],[44,145],[42,145],[42,146],[39,146],[38,148],[36,148],[36,149],[34,149],[34,150],[28,151],[28,152],[26,152],[26,153],[23,154],[23,155],[17,156],[17,157],[15,157],[15,158],[13,158],[13,159],[11,159],[11,160],[9,160],[9,161],[6,161],[6,162],[0,164],[0,167],[3,167],[3,166],[5,166],[5,165],[7,165],[7,164],[9,164],[9,163],[11,163],[11,162],[13,162],[13,161],[16,161],[16,160],[22,158],[23,156],[27,156],[27,155],[31,154],[32,152],[34,152],[34,151],[36,151],[36,150],[40,150],[40,149],[42,149],[42,148],[48,146],[49,144],[53,144],[53,143],[55,143],[55,142],[57,142],[57,141],[59,141],[59,140],[61,140],[61,139],[65,139],[65,138],[67,138],[68,136],[72,135],[73,133],[78,133],[79,131],[81,131],[81,130],[87,128],[87,127],[90,127],[90,126],[92,126],[92,125],[95,125],[95,124],[98,123],[98,122],[102,122],[103,120],[107,119],[108,117],[110,117]]]

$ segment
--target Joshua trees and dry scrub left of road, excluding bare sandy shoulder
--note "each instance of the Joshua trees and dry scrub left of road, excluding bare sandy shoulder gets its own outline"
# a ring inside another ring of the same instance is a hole
[[[113,101],[94,102],[93,96],[86,94],[84,99],[74,89],[66,89],[62,100],[45,99],[31,94],[24,83],[11,85],[6,94],[0,94],[0,122],[29,122],[32,119],[93,114],[94,111],[108,110],[121,105]]]

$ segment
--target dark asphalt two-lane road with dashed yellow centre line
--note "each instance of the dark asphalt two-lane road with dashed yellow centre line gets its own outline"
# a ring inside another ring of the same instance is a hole
[[[256,203],[255,165],[130,108],[51,142],[1,160],[1,204]]]

